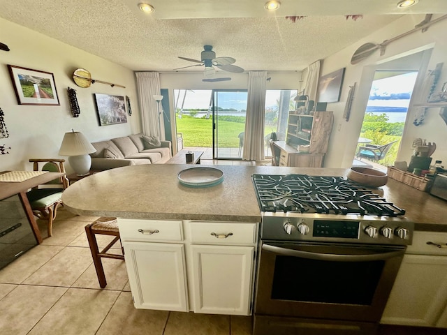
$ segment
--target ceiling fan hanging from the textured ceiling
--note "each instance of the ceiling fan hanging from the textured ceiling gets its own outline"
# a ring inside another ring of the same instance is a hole
[[[203,71],[203,75],[205,79],[204,82],[220,82],[223,80],[231,80],[231,78],[212,78],[216,73],[216,68],[221,70],[232,72],[232,73],[241,73],[244,72],[243,68],[239,66],[233,65],[236,61],[232,57],[216,57],[216,52],[212,51],[212,45],[204,45],[203,51],[200,53],[200,61],[198,59],[191,59],[186,57],[179,57],[179,59],[184,59],[185,61],[193,61],[194,63],[198,63],[190,66],[183,66],[182,68],[191,68],[193,66],[205,66],[205,70]],[[182,68],[175,68],[174,70],[180,70]]]

